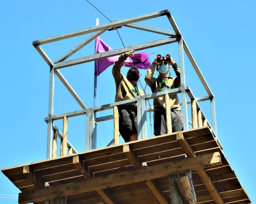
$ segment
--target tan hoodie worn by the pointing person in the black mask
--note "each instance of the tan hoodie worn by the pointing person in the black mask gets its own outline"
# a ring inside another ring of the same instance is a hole
[[[116,96],[115,96],[115,102],[123,101],[127,99],[137,98],[140,97],[140,95],[144,95],[143,91],[139,89],[137,86],[135,86],[133,83],[131,83],[122,73],[121,73],[121,67],[123,66],[123,63],[127,57],[122,54],[120,55],[118,61],[115,61],[112,74],[115,79],[116,83]],[[136,90],[138,89],[139,94],[137,94]],[[125,105],[124,105],[125,106]],[[137,109],[137,103],[132,105],[134,109]]]

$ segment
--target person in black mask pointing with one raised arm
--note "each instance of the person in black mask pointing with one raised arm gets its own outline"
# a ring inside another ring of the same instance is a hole
[[[115,102],[127,99],[137,98],[144,95],[143,91],[138,88],[137,82],[140,79],[139,70],[131,67],[125,77],[121,73],[121,67],[128,57],[132,57],[135,50],[123,53],[114,63],[112,74],[116,84]],[[125,142],[138,139],[138,118],[137,104],[118,106],[119,113],[119,132]]]

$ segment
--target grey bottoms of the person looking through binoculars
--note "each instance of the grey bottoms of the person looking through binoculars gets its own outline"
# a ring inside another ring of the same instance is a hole
[[[183,117],[180,110],[171,109],[172,132],[183,130]],[[167,134],[165,110],[154,111],[154,135]]]

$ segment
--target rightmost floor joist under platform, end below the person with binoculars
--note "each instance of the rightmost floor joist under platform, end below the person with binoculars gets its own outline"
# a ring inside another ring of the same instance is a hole
[[[185,151],[187,157],[196,158],[194,151],[191,149],[189,143],[187,142],[187,139],[183,136],[183,134],[177,133],[176,138],[177,138],[180,146],[182,147],[183,151]],[[224,204],[225,202],[221,198],[220,193],[214,187],[214,185],[213,185],[210,177],[206,173],[206,171],[204,169],[197,169],[196,172],[197,172],[198,176],[200,177],[200,179],[202,180],[202,182],[204,183],[206,189],[211,194],[214,201],[217,204]]]

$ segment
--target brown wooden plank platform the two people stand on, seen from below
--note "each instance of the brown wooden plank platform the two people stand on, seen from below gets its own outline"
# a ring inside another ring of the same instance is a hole
[[[251,203],[208,127],[10,167],[2,172],[22,192],[19,203],[44,203],[67,196],[67,203],[72,204],[159,204],[171,203],[168,175],[182,176],[188,170],[193,170],[197,203]]]

